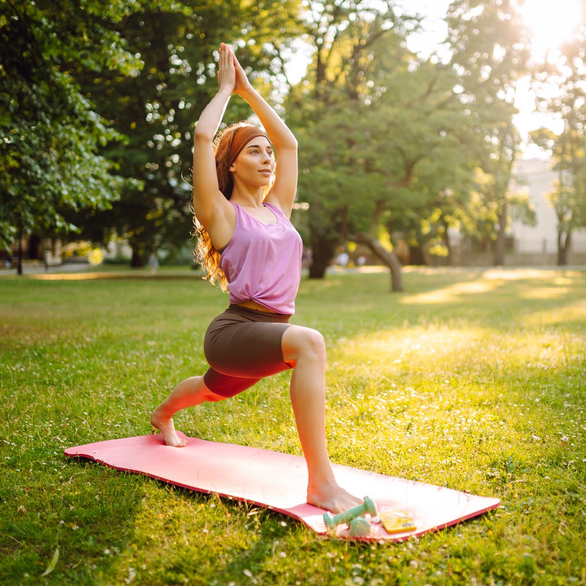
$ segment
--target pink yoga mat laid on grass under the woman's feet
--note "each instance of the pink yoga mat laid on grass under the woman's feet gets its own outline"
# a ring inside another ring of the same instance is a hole
[[[180,437],[185,438],[183,434]],[[172,448],[161,434],[107,440],[67,448],[68,456],[83,456],[111,468],[145,474],[176,486],[244,500],[301,520],[317,533],[328,533],[325,510],[305,502],[307,468],[299,456],[187,438],[184,448]],[[404,541],[445,529],[500,505],[499,499],[470,495],[423,482],[333,465],[336,480],[356,496],[370,496],[380,510],[406,510],[417,529],[387,533],[371,523],[369,541]],[[346,524],[332,533],[349,537]]]

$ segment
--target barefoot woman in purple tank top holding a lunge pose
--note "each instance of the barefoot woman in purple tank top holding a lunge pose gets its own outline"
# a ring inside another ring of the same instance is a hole
[[[341,512],[362,500],[333,475],[325,439],[323,336],[289,324],[301,275],[301,239],[289,222],[297,186],[297,141],[251,87],[227,45],[220,46],[219,90],[197,121],[193,210],[199,255],[210,282],[230,291],[230,307],[210,324],[204,350],[210,369],[178,384],[151,415],[167,445],[183,447],[172,416],[203,401],[221,401],[264,376],[293,369],[291,403],[308,467],[308,503]],[[233,125],[213,137],[230,96],[253,108],[267,133]],[[270,137],[270,140],[269,140]],[[278,151],[278,162],[271,142]],[[275,169],[276,167],[276,169]],[[275,180],[271,185],[271,177]]]

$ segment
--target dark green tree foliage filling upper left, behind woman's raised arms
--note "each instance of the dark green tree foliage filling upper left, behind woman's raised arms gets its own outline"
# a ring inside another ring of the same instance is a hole
[[[77,4],[2,3],[3,241],[17,226],[96,242],[117,231],[140,264],[189,238],[192,128],[216,91],[219,43],[265,84],[282,75],[298,2]],[[250,113],[235,99],[226,120]]]

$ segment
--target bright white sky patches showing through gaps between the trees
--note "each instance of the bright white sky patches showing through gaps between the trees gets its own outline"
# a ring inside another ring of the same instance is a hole
[[[443,18],[450,2],[451,0],[398,0],[397,4],[405,12],[417,12],[424,16],[423,32],[411,35],[407,41],[410,50],[428,56],[445,39],[447,26]],[[525,0],[522,14],[532,30],[532,52],[537,59],[543,57],[547,49],[554,50],[560,42],[570,38],[573,30],[586,19],[584,0]],[[304,75],[309,59],[311,55],[299,45],[294,62],[288,69],[292,83]],[[536,112],[529,79],[522,79],[517,84],[515,105],[519,110],[515,124],[523,136],[544,125],[557,132],[561,130],[556,120]],[[526,149],[527,156],[537,154],[535,147]]]

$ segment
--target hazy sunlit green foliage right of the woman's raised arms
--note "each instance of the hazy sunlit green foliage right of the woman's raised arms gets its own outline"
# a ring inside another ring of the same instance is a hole
[[[508,214],[527,210],[509,193],[515,83],[528,57],[516,5],[452,2],[448,62],[405,49],[417,18],[399,18],[390,3],[368,15],[360,6],[312,4],[314,63],[287,101],[299,107],[288,120],[301,137],[312,247],[333,253],[381,223],[435,251],[449,250],[449,227],[504,234]]]

